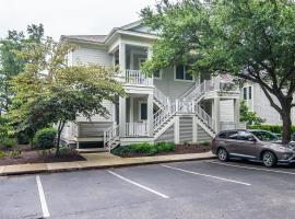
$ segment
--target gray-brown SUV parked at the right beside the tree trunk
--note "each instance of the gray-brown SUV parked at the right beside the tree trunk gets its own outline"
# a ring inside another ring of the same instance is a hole
[[[273,134],[266,130],[225,130],[212,140],[212,152],[221,161],[231,157],[262,161],[266,166],[295,162],[295,146],[282,145]]]

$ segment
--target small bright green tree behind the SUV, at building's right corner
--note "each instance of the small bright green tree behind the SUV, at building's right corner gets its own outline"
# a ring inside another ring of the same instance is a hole
[[[260,118],[257,113],[249,111],[245,101],[240,102],[239,114],[239,120],[247,123],[247,125],[261,125],[266,122],[266,119]]]

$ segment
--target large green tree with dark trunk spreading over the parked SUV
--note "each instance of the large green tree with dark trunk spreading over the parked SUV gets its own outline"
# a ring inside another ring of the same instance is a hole
[[[258,83],[283,119],[283,142],[291,140],[295,106],[295,3],[293,0],[168,0],[141,15],[160,38],[143,70],[175,62],[198,72],[231,73]]]

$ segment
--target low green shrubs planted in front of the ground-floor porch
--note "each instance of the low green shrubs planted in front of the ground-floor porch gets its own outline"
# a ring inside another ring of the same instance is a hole
[[[160,152],[174,151],[175,145],[168,142],[158,142],[156,145],[143,142],[133,143],[130,146],[122,146],[111,150],[111,153],[116,155],[132,155],[132,154],[146,154],[152,155]]]

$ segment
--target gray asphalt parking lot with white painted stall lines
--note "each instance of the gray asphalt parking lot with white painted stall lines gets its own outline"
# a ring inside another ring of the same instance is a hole
[[[295,168],[217,160],[0,177],[0,218],[294,218]]]

